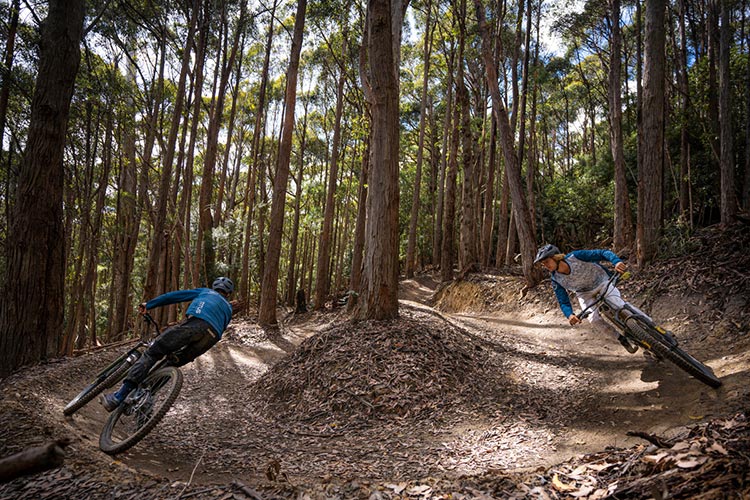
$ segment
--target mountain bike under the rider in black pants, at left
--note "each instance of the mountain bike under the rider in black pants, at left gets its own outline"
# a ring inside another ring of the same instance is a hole
[[[153,325],[158,336],[159,326],[154,319],[149,314],[144,314],[143,317]],[[99,372],[95,380],[68,403],[63,413],[72,415],[97,394],[124,378],[151,342],[138,342]],[[120,406],[109,414],[99,436],[99,448],[103,452],[116,455],[132,448],[166,415],[182,389],[182,373],[176,366],[170,365],[177,359],[179,351],[157,362],[143,382],[130,391]]]

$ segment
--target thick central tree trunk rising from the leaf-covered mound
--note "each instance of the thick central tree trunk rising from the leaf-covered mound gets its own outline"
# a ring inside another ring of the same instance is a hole
[[[357,312],[360,319],[398,316],[398,68],[402,9],[407,4],[408,0],[367,3],[372,171],[367,196],[362,295]],[[367,83],[364,87],[368,88]]]

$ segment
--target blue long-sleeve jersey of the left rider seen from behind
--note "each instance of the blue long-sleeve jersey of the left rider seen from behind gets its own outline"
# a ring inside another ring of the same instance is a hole
[[[186,314],[207,321],[211,329],[221,339],[224,330],[232,320],[232,304],[219,292],[210,288],[194,288],[192,290],[176,290],[149,300],[146,309],[178,304],[192,300]]]

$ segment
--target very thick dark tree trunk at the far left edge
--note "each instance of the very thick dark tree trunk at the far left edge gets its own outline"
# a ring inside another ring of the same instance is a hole
[[[57,352],[65,288],[63,152],[85,5],[50,0],[0,303],[0,377]]]

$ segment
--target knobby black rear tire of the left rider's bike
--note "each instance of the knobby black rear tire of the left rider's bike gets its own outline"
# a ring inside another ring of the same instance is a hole
[[[166,399],[159,401],[150,409],[150,416],[143,425],[139,425],[134,429],[134,432],[129,433],[119,440],[114,437],[113,434],[116,432],[122,432],[121,430],[115,431],[115,427],[124,417],[128,405],[127,403],[123,403],[118,406],[110,414],[109,419],[107,419],[107,422],[104,424],[101,436],[99,437],[99,448],[104,453],[109,455],[122,453],[123,451],[132,448],[141,439],[146,437],[154,427],[156,427],[156,424],[158,424],[164,415],[166,415],[167,411],[169,411],[169,408],[175,402],[180,393],[180,389],[182,388],[182,373],[174,366],[160,368],[146,377],[139,387],[152,388],[154,384],[158,385],[153,388],[152,394],[155,395],[159,393],[164,395],[166,391]]]

